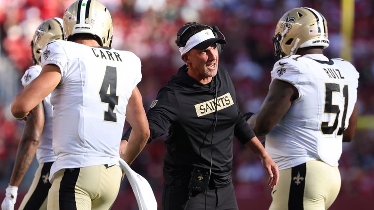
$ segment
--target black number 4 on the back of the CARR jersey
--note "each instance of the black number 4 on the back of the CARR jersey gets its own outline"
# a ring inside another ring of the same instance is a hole
[[[114,107],[118,105],[117,91],[117,68],[106,66],[102,87],[100,88],[100,98],[103,103],[108,104],[108,111],[104,111],[104,120],[117,122],[117,115]]]

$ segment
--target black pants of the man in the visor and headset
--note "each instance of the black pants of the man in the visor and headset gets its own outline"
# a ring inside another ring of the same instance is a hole
[[[162,192],[163,210],[184,210],[188,199],[186,186],[165,184]],[[206,208],[205,208],[206,206]],[[233,183],[226,187],[208,189],[205,193],[193,193],[186,210],[238,210]]]

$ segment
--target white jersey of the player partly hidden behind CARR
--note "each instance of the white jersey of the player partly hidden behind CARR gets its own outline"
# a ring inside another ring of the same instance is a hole
[[[42,67],[40,65],[33,65],[26,70],[22,76],[22,85],[26,87],[33,81],[41,72]],[[39,147],[36,150],[36,160],[38,163],[42,162],[53,162],[56,160],[56,155],[52,150],[52,116],[53,107],[51,105],[51,94],[43,99],[44,107],[44,128],[40,139]]]

